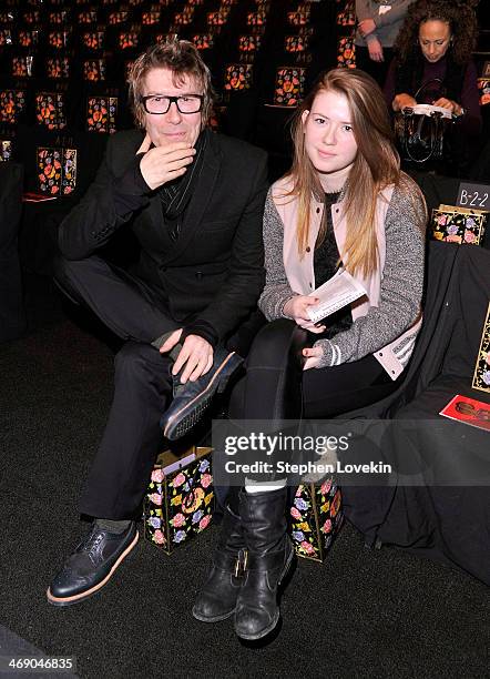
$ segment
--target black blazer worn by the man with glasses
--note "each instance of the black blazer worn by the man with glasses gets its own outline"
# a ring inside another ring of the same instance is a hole
[[[93,184],[60,227],[60,249],[82,260],[124,223],[141,243],[134,273],[161,291],[171,317],[210,324],[221,340],[256,307],[265,280],[262,219],[267,192],[266,153],[205,132],[203,169],[173,241],[156,192],[142,195],[136,151],[143,132],[110,138]]]

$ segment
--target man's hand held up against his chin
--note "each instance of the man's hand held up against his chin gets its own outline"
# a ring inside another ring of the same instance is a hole
[[[140,170],[150,189],[159,189],[187,171],[195,155],[195,149],[187,142],[172,142],[151,149],[152,140],[146,133],[137,153],[144,153]]]

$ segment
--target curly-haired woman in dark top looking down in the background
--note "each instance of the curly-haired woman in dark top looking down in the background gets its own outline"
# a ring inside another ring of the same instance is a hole
[[[385,84],[394,111],[429,103],[452,113],[447,132],[453,160],[467,166],[482,119],[477,69],[471,60],[478,24],[471,0],[418,0],[410,6],[395,43]]]

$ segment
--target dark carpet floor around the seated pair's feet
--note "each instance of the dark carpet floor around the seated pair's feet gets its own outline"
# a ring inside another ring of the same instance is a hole
[[[76,500],[112,392],[111,351],[53,300],[31,307],[25,337],[0,346],[0,625],[48,656],[75,656],[88,678],[490,677],[489,589],[399,550],[366,550],[349,526],[324,565],[298,564],[265,648],[191,615],[214,529],[171,557],[141,543],[98,596],[48,606],[50,578],[86,529]]]

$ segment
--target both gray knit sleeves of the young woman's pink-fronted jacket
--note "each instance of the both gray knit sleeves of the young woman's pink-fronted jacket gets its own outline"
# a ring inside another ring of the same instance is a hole
[[[395,189],[385,222],[386,264],[379,306],[372,306],[366,316],[357,318],[349,330],[331,340],[315,342],[315,346],[323,349],[318,367],[350,363],[374,354],[400,334],[395,326],[406,328],[412,322],[414,318],[400,318],[397,302],[402,297],[406,308],[418,308],[420,305],[425,234],[419,224],[423,222],[425,214],[422,199],[416,193],[407,193],[407,184],[404,190]],[[269,190],[264,212],[266,284],[258,301],[268,321],[284,317],[284,305],[297,294],[290,288],[284,270],[283,234],[283,222]],[[404,359],[404,346],[397,348],[400,362],[405,364],[411,352]]]

